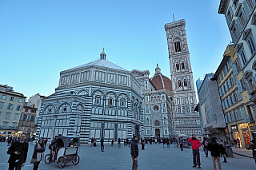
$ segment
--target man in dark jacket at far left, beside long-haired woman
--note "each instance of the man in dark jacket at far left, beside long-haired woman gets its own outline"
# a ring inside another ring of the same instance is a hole
[[[9,170],[21,170],[24,167],[26,162],[27,152],[29,150],[29,144],[25,142],[26,133],[22,133],[20,140],[11,144],[10,148],[7,151],[7,154],[10,154],[8,160]]]

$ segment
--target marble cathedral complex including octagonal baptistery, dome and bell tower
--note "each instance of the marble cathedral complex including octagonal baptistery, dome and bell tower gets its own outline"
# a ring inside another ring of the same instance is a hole
[[[170,78],[156,66],[131,71],[100,59],[60,73],[55,93],[42,100],[36,137],[80,136],[106,142],[141,137],[201,135],[185,20],[165,25]]]

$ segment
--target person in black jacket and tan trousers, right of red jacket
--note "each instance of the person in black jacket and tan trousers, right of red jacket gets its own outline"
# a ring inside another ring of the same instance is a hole
[[[210,143],[207,145],[207,148],[210,151],[210,155],[213,160],[214,170],[217,170],[216,160],[218,162],[218,169],[222,170],[220,147],[219,144],[216,142],[215,137],[210,138]]]

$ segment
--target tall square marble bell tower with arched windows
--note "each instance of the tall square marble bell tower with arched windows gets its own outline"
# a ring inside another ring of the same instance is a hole
[[[200,121],[199,123],[193,121],[196,120],[196,118],[193,118],[194,116],[199,116],[198,113],[194,112],[198,101],[194,89],[185,26],[186,22],[184,19],[165,25],[170,61],[170,77],[174,92],[175,125],[177,135],[190,135],[192,127],[194,128],[192,132],[199,135],[201,130],[197,126],[198,124],[200,125]],[[194,126],[187,128],[188,124],[185,122],[190,122],[190,125]]]

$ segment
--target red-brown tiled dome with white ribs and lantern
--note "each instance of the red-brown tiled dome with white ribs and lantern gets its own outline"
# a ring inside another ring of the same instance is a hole
[[[170,78],[162,75],[161,69],[158,67],[158,65],[155,69],[154,77],[151,77],[150,81],[157,90],[166,89],[172,91],[172,84]]]

